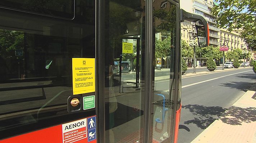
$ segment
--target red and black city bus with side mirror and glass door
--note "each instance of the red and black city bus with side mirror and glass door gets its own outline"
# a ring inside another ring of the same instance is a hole
[[[177,142],[180,22],[204,47],[201,16],[177,0],[3,0],[0,15],[1,143]]]

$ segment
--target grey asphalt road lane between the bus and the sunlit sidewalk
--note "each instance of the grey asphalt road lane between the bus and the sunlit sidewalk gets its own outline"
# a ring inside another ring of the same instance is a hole
[[[198,83],[205,80],[209,81]],[[183,78],[178,143],[190,143],[236,102],[252,83],[255,83],[255,74],[251,68]]]

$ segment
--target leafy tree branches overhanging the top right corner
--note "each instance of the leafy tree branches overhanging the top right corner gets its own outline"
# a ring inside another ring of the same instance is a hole
[[[212,9],[212,15],[218,17],[217,24],[229,31],[242,29],[241,37],[248,47],[256,50],[256,1],[255,0],[219,0]]]

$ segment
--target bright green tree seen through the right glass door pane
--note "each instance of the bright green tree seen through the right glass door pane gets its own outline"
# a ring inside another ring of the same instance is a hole
[[[170,55],[171,52],[171,38],[170,36],[165,38],[164,40],[157,40],[156,39],[156,48],[155,48],[155,57],[160,58],[160,57],[166,57]]]

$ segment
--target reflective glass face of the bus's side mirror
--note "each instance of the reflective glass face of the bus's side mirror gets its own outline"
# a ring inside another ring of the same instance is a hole
[[[197,31],[198,47],[206,47],[209,44],[209,28],[208,24],[204,25],[202,20],[195,22]]]

